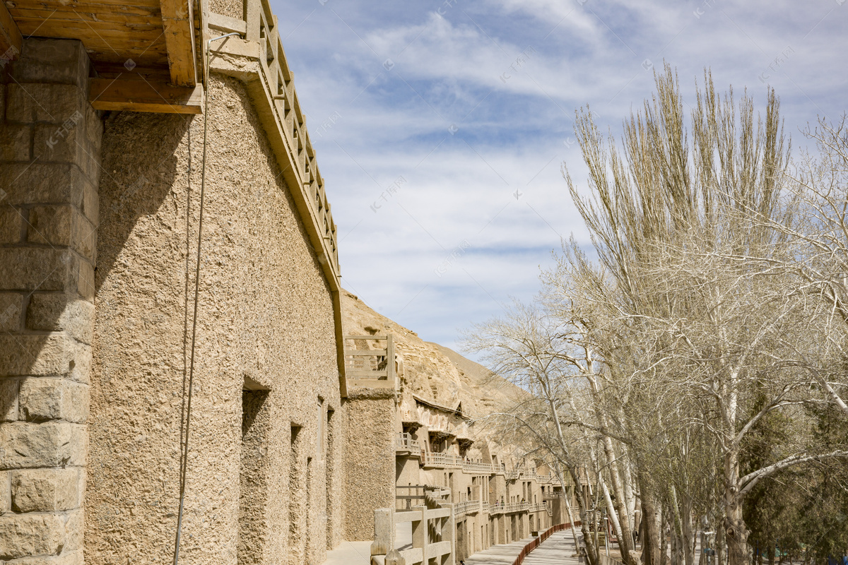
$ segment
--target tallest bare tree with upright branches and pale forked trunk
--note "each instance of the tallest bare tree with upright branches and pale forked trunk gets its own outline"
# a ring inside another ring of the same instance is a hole
[[[845,451],[786,446],[780,460],[740,473],[740,446],[750,429],[767,413],[804,400],[809,378],[791,360],[797,358],[793,336],[806,327],[799,320],[808,310],[804,296],[784,291],[789,281],[772,267],[788,259],[787,237],[759,221],[794,229],[795,218],[779,205],[788,148],[777,97],[770,91],[765,118],[755,119],[750,97],[737,102],[731,91],[720,99],[705,78],[691,146],[668,67],[657,77],[653,101],[625,123],[622,152],[600,136],[588,110],[577,114],[591,196],[582,197],[567,172],[566,180],[600,269],[574,253],[567,275],[583,278],[577,285],[617,320],[616,335],[630,331],[639,351],[633,345],[623,351],[636,353],[629,362],[634,376],[647,371],[692,402],[711,402],[702,422],[722,458],[728,562],[742,565],[747,492],[779,469]],[[611,367],[613,356],[611,349]]]

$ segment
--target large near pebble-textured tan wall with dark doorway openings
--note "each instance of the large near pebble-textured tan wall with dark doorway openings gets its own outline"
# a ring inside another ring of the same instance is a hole
[[[305,473],[308,457],[310,509],[326,506],[317,399],[338,411],[332,298],[245,88],[213,75],[208,96],[181,562],[236,563],[239,532],[264,529],[264,562],[283,563],[290,524],[304,519],[289,515],[290,469]],[[202,136],[202,116],[124,112],[105,122],[86,497],[92,564],[172,559]],[[240,504],[246,380],[270,389],[268,429],[251,447],[266,459],[270,495],[254,518]],[[295,462],[292,425],[302,440]],[[318,513],[304,562],[326,551]]]

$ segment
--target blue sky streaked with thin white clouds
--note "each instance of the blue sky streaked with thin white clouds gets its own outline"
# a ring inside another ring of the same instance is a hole
[[[552,252],[589,246],[562,168],[586,169],[574,115],[601,130],[655,88],[781,101],[786,133],[839,119],[848,1],[271,0],[332,215],[342,285],[426,341],[539,291]]]

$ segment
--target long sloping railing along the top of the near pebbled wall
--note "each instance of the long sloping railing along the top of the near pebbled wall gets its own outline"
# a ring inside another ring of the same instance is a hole
[[[281,163],[282,174],[287,178],[287,184],[294,193],[296,200],[299,192],[307,208],[311,221],[317,230],[319,241],[315,249],[321,263],[326,263],[336,277],[338,285],[338,234],[336,224],[330,213],[324,191],[324,180],[315,162],[315,149],[312,147],[309,132],[306,130],[306,119],[298,102],[298,94],[294,89],[292,72],[288,68],[286,54],[282,49],[280,35],[277,31],[277,19],[271,12],[269,0],[243,0],[243,18],[232,18],[222,14],[204,14],[204,36],[223,35],[237,32],[246,42],[258,45],[259,75],[264,83],[264,90],[270,100],[269,108],[258,108],[261,119],[272,119],[276,123],[274,133],[282,137],[287,146],[290,168]],[[232,53],[228,41],[215,44],[214,53]],[[249,47],[249,46],[246,46]],[[232,48],[243,54],[242,47],[232,45]],[[213,70],[215,65],[213,65]],[[272,115],[269,115],[272,114]],[[270,124],[263,124],[265,130],[270,130]],[[271,138],[274,136],[269,134]],[[271,140],[274,141],[273,139]],[[298,202],[298,206],[299,206]],[[304,218],[304,222],[308,220]]]

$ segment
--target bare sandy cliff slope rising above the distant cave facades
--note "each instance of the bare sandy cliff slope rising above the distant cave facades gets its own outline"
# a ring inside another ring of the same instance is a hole
[[[462,405],[471,418],[507,407],[521,390],[487,368],[418,335],[365,305],[357,296],[343,291],[345,335],[393,334],[398,356],[398,377],[404,401],[415,395],[443,407]]]

